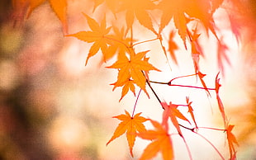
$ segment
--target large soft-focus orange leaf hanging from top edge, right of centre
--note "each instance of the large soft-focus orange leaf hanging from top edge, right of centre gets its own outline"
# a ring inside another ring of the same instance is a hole
[[[174,25],[178,29],[178,34],[186,48],[187,19],[189,19],[201,22],[205,26],[206,31],[210,30],[216,35],[212,15],[222,2],[221,0],[163,0],[158,5],[159,9],[163,12],[159,33],[173,19]]]

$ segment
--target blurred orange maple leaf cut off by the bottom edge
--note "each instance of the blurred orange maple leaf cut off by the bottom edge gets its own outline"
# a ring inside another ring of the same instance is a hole
[[[140,160],[154,158],[161,152],[164,160],[173,159],[173,143],[168,130],[163,128],[159,122],[150,120],[154,130],[146,130],[137,134],[141,139],[149,139],[152,142],[145,148]]]

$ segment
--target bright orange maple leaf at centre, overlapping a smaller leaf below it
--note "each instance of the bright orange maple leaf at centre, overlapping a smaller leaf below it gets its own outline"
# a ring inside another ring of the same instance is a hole
[[[139,86],[143,91],[146,92],[146,89],[145,89],[146,78],[144,73],[142,73],[142,71],[145,71],[145,72],[149,70],[160,71],[158,68],[155,68],[152,64],[149,64],[147,60],[142,60],[148,51],[140,52],[134,55],[130,54],[130,59],[128,59],[126,55],[121,55],[119,59],[116,61],[116,63],[107,67],[107,68],[119,69],[117,82],[114,83],[115,87],[120,86],[120,84],[122,84],[123,82],[126,82],[127,79],[132,78],[133,82],[135,82],[137,86]]]

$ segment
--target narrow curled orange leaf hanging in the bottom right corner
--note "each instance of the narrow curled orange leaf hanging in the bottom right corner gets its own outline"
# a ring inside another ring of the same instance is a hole
[[[227,139],[228,139],[228,144],[229,144],[229,148],[230,148],[230,159],[234,159],[236,156],[236,151],[235,151],[235,146],[239,145],[237,140],[235,139],[235,135],[231,132],[232,129],[234,128],[235,125],[228,125],[227,129],[226,129],[226,135],[227,135]]]

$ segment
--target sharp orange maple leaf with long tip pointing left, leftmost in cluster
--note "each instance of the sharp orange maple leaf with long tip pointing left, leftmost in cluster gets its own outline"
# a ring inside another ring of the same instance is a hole
[[[106,17],[102,19],[101,26],[92,19],[90,16],[83,14],[88,21],[88,25],[91,28],[92,31],[79,31],[78,33],[72,34],[72,35],[66,35],[66,36],[74,36],[78,40],[83,40],[88,43],[94,42],[92,47],[89,49],[89,54],[86,59],[86,63],[88,64],[88,59],[90,59],[93,55],[97,54],[99,49],[102,50],[103,59],[106,61],[105,57],[109,58],[108,54],[108,48],[107,44],[111,43],[111,40],[107,38],[107,34],[111,30],[111,27],[106,28]]]

